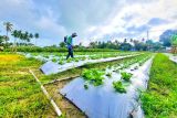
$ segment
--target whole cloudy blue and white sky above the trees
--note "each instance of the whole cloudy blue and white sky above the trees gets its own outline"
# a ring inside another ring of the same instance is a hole
[[[13,29],[38,32],[38,45],[59,45],[77,33],[74,44],[123,39],[157,41],[167,29],[177,29],[177,0],[1,0],[3,22]],[[13,40],[13,37],[11,37]]]

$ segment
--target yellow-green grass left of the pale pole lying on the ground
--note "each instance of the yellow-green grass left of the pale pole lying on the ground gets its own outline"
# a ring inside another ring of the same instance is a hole
[[[41,62],[15,54],[0,53],[0,118],[55,117],[40,85],[29,73]]]

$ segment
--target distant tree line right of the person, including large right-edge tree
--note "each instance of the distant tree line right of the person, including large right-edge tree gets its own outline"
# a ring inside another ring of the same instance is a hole
[[[61,42],[60,47],[65,47],[65,43]],[[75,47],[83,49],[82,43]],[[115,41],[95,41],[90,42],[88,49],[113,49],[122,51],[165,51],[166,47],[173,47],[171,52],[177,52],[177,30],[166,30],[159,35],[159,41],[145,39],[124,39],[123,42]]]

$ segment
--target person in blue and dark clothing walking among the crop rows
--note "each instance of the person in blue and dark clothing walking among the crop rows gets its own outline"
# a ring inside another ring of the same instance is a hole
[[[66,56],[66,60],[71,56],[71,57],[74,57],[73,55],[73,37],[77,36],[76,33],[72,33],[72,35],[70,36],[64,36],[64,42],[66,43],[66,46],[67,46],[67,56]]]

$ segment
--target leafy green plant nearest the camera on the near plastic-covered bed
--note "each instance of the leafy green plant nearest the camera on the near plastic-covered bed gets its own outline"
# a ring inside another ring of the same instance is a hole
[[[123,84],[122,84],[121,81],[113,82],[113,87],[114,87],[115,92],[126,93],[126,89],[125,89],[125,87],[123,86]]]

